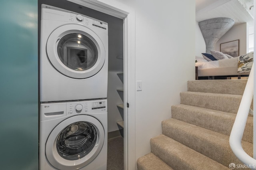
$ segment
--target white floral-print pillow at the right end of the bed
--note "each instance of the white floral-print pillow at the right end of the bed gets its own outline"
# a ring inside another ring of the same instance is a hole
[[[250,73],[253,63],[253,52],[238,56],[238,73]]]

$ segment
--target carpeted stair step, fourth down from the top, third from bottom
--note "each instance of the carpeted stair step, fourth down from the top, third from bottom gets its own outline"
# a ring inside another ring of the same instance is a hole
[[[163,134],[228,166],[231,162],[242,164],[229,146],[229,136],[197,127],[189,123],[168,119],[162,121]],[[242,141],[245,152],[252,156],[252,143]],[[153,152],[154,153],[154,152]],[[154,153],[155,154],[155,153]]]

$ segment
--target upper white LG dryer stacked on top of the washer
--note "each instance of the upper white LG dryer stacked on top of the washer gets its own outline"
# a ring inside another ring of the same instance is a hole
[[[40,101],[103,99],[108,86],[108,24],[42,4]]]

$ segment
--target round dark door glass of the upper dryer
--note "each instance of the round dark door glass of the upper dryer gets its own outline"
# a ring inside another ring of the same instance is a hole
[[[98,59],[95,43],[82,34],[64,36],[57,47],[58,56],[68,68],[84,71],[94,66]]]

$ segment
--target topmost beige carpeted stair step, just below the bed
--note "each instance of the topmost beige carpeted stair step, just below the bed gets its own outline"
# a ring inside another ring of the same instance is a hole
[[[188,91],[242,95],[246,79],[237,80],[194,80],[188,81]]]

